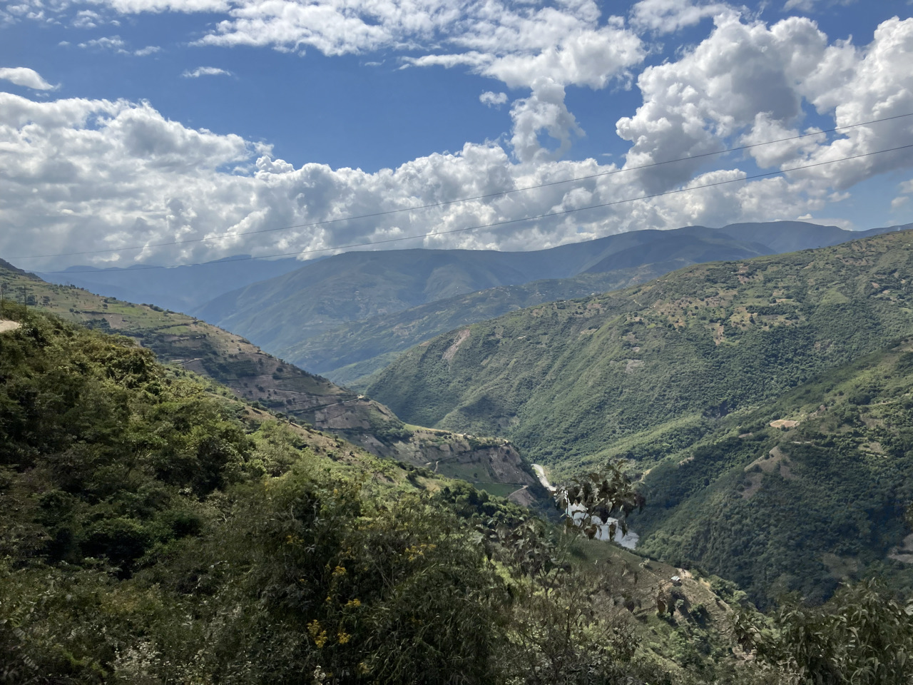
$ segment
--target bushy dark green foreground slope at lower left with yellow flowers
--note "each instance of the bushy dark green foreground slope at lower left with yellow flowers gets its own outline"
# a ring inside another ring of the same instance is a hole
[[[0,320],[3,682],[761,682],[707,580],[555,538],[129,339]]]

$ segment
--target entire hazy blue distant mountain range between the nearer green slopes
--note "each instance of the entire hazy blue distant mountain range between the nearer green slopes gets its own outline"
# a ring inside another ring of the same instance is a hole
[[[632,231],[529,252],[408,249],[307,262],[240,256],[173,269],[73,267],[38,275],[193,314],[313,373],[360,385],[417,342],[521,307],[645,282],[690,264],[895,229],[785,221]]]

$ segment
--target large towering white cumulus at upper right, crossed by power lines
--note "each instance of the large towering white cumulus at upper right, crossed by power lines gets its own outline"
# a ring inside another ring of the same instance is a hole
[[[644,103],[617,123],[631,141],[629,166],[719,151],[728,142],[751,144],[796,135],[803,102],[834,125],[913,111],[913,19],[897,17],[876,29],[866,47],[829,43],[813,21],[790,17],[772,26],[735,14],[716,18],[711,35],[677,61],[646,68],[637,84]],[[803,130],[803,132],[805,132]],[[913,142],[910,118],[887,121],[801,142],[750,150],[761,166],[789,167],[876,153]],[[834,164],[818,179],[817,190],[843,190],[897,166],[908,153],[878,154]],[[652,190],[685,183],[704,162],[666,164],[643,175]],[[811,183],[811,182],[810,182]]]

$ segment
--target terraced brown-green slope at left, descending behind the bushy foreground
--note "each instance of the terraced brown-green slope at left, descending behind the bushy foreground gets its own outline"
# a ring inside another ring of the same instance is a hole
[[[0,288],[11,301],[26,301],[38,311],[129,336],[163,362],[211,378],[238,397],[344,437],[375,455],[467,479],[499,495],[516,492],[514,498],[524,504],[544,496],[519,452],[503,438],[407,428],[386,406],[287,364],[205,321],[50,284],[3,260]]]

